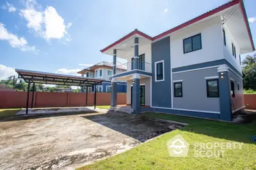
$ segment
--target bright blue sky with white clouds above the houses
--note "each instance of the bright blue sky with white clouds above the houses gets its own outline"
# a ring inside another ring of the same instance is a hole
[[[0,80],[28,69],[77,74],[134,29],[156,36],[227,0],[0,0]],[[256,1],[244,0],[253,41]],[[122,62],[122,60],[120,60]]]

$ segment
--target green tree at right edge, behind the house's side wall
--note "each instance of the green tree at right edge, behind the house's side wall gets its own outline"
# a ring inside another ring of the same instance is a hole
[[[242,62],[244,89],[256,90],[256,53],[247,55]]]

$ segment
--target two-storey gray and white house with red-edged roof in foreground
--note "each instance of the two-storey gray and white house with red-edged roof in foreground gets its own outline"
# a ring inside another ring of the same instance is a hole
[[[126,80],[133,113],[230,121],[244,109],[240,54],[253,50],[243,1],[234,0],[154,37],[135,29],[100,51],[113,55],[111,106],[116,81]],[[126,71],[115,73],[116,56],[129,61]]]

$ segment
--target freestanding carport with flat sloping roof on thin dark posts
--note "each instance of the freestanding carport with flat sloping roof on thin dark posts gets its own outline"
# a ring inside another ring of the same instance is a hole
[[[86,104],[87,106],[87,97],[88,97],[88,87],[94,86],[97,89],[97,85],[101,84],[102,79],[96,78],[86,78],[82,76],[72,76],[65,74],[56,74],[56,73],[45,73],[40,71],[30,71],[24,69],[15,69],[19,74],[19,78],[22,78],[26,83],[28,83],[28,94],[27,94],[27,104],[26,104],[26,114],[28,114],[28,105],[29,105],[29,91],[30,85],[33,83],[33,94],[31,100],[31,109],[33,108],[34,101],[34,92],[35,84],[49,84],[49,85],[72,85],[86,87]],[[94,109],[96,108],[96,93],[97,90],[94,90]]]

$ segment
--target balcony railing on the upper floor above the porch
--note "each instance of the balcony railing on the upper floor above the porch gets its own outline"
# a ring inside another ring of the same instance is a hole
[[[134,69],[135,69],[134,61],[127,62],[125,64],[120,64],[120,65],[116,66],[116,73],[132,71]],[[151,64],[148,62],[139,61],[138,69],[140,69],[141,71],[151,73]]]

